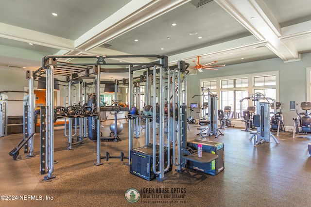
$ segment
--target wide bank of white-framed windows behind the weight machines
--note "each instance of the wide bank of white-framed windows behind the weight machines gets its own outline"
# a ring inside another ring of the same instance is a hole
[[[218,77],[213,78],[213,80],[204,79],[200,81],[202,86],[210,88],[214,94],[221,95],[218,101],[218,109],[224,110],[225,106],[231,106],[231,115],[238,119],[241,118],[241,111],[254,105],[252,100],[245,98],[249,97],[250,94],[260,92],[266,97],[278,100],[278,71]],[[243,101],[240,102],[242,99]],[[206,101],[201,99],[201,105],[203,102]]]

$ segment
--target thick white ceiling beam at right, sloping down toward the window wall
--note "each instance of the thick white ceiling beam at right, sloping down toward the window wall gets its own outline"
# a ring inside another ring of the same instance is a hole
[[[281,40],[281,28],[263,0],[214,0],[284,62],[300,60],[291,44]]]

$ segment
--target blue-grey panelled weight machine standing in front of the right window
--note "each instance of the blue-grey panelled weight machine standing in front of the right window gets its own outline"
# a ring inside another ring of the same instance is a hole
[[[275,105],[276,100],[273,98],[265,97],[265,95],[257,92],[256,94],[247,97],[254,101],[256,105],[256,118],[254,119],[254,126],[257,127],[256,132],[251,132],[252,136],[249,140],[254,139],[254,146],[261,143],[270,143],[270,138],[278,144],[276,137],[270,131],[270,112],[269,107],[271,104]],[[260,102],[267,101],[267,102]],[[269,101],[272,101],[270,103]],[[255,116],[255,115],[254,115]]]

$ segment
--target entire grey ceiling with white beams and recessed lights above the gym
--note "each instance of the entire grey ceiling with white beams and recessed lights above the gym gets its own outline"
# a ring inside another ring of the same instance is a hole
[[[193,64],[199,55],[201,64],[230,65],[299,61],[301,53],[311,52],[309,0],[0,0],[0,5],[0,70],[35,70],[43,56],[53,54],[159,54],[172,64]],[[124,60],[108,60],[119,61]]]

